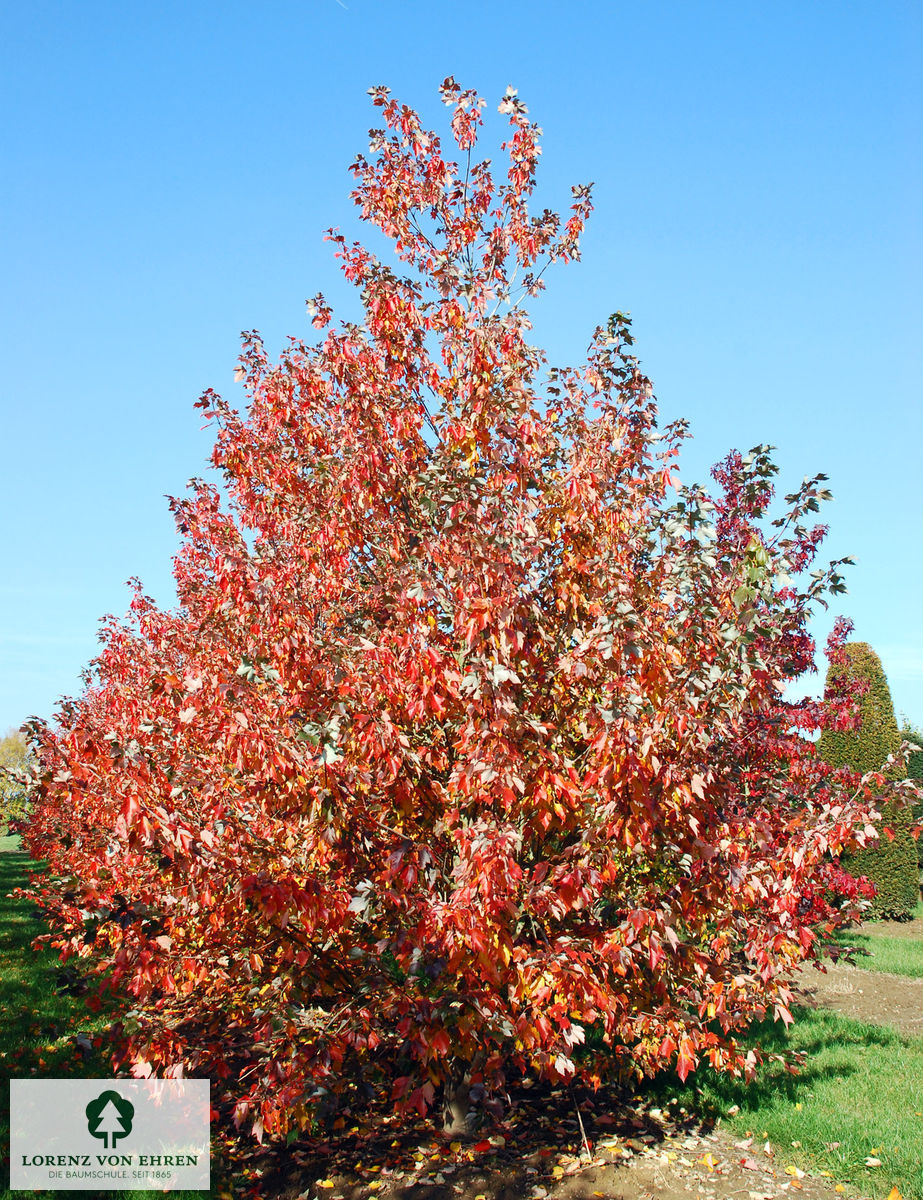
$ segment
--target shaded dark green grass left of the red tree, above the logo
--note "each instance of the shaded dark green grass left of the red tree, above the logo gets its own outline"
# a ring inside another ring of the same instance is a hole
[[[10,896],[26,884],[26,870],[34,864],[19,848],[17,838],[0,838],[0,1147],[4,1158],[4,1182],[8,1181],[10,1087],[7,1080],[38,1078],[112,1079],[104,1057],[107,1021],[92,1015],[79,996],[60,989],[61,965],[50,950],[31,949],[35,937],[44,932],[35,906],[29,900]],[[76,1038],[90,1045],[82,1050]],[[212,1158],[212,1175],[216,1163]],[[24,1193],[12,1193],[0,1184],[0,1200],[12,1200]],[[86,1192],[82,1192],[86,1195]],[[113,1192],[106,1195],[143,1200],[151,1192]],[[208,1196],[208,1192],[173,1192],[176,1200]],[[58,1192],[32,1192],[35,1196],[58,1196]]]

